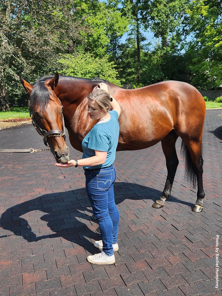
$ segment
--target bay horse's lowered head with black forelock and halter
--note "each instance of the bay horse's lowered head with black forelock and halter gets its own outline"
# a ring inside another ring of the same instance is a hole
[[[44,137],[44,143],[49,145],[57,163],[67,163],[69,148],[65,144],[63,106],[54,92],[59,81],[58,72],[49,82],[40,79],[32,85],[21,76],[19,78],[29,94],[29,112],[34,127]]]

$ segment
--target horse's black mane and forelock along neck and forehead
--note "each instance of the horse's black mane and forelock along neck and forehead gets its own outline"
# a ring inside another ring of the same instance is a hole
[[[48,79],[52,79],[54,76],[44,76],[36,80],[32,85],[35,86],[29,97],[29,108],[30,111],[33,112],[36,106],[40,107],[40,110],[44,110],[46,104],[49,103],[49,91],[44,86],[44,82]],[[86,81],[98,81],[98,82],[106,82],[110,83],[107,80],[100,79],[99,77],[94,78],[80,78],[73,76],[59,76],[59,80],[86,80]]]

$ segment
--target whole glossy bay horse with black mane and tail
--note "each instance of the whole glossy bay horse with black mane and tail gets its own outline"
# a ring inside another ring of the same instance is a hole
[[[69,160],[63,116],[71,145],[83,152],[81,142],[96,124],[96,120],[91,120],[87,112],[87,95],[98,83],[106,83],[108,91],[121,107],[117,151],[144,149],[161,141],[168,174],[163,193],[152,207],[163,207],[170,196],[179,163],[175,148],[179,136],[188,181],[194,187],[197,181],[197,201],[192,211],[203,210],[202,133],[206,106],[194,86],[179,81],[163,81],[126,90],[99,78],[59,77],[58,73],[42,77],[32,85],[21,76],[20,81],[30,95],[30,114],[39,128],[48,131],[44,137],[45,144],[49,144],[59,163]]]

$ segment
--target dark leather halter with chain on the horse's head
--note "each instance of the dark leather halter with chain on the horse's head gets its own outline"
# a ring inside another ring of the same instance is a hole
[[[39,135],[44,137],[43,141],[44,141],[44,144],[46,146],[48,146],[47,145],[47,137],[60,137],[60,136],[62,136],[64,138],[64,140],[66,139],[66,136],[65,136],[65,123],[64,123],[63,115],[62,115],[62,131],[60,131],[60,130],[46,131],[44,129],[41,129],[41,127],[39,126],[39,124],[35,120],[35,118],[33,116],[33,113],[31,112],[30,107],[29,107],[29,101],[28,101],[28,109],[29,109],[30,117],[32,118],[32,124],[33,124],[34,128],[36,129],[36,131],[39,133]]]

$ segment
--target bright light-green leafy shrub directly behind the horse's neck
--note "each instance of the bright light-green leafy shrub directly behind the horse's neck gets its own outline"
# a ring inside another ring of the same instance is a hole
[[[61,55],[58,62],[61,69],[59,73],[62,75],[84,78],[99,77],[118,86],[121,85],[114,62],[109,62],[108,55],[95,58],[90,53],[66,54]]]

